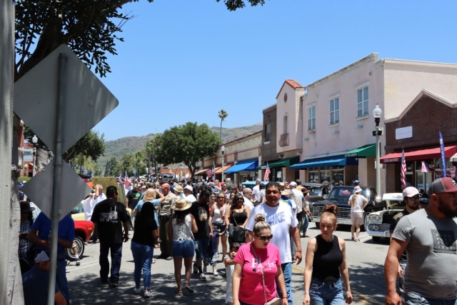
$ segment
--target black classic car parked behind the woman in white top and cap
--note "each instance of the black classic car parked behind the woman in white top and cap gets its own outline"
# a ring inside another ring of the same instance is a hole
[[[326,200],[318,201],[313,204],[311,221],[316,222],[316,227],[319,227],[319,221],[323,213],[323,208],[328,204],[336,204],[338,206],[338,214],[336,215],[338,224],[351,225],[351,206],[348,205],[349,197],[354,192],[355,186],[335,186],[328,194]],[[364,224],[368,224],[368,214],[373,211],[381,211],[386,209],[386,204],[378,199],[376,202],[376,189],[368,186],[361,186],[362,195],[368,199],[368,204],[364,209]],[[362,228],[363,229],[363,226]]]

